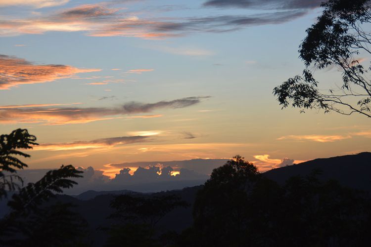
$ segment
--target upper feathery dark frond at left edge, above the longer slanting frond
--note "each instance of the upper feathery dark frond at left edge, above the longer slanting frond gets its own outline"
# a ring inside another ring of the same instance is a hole
[[[0,135],[0,200],[6,196],[7,191],[19,189],[17,183],[23,183],[20,176],[16,175],[17,169],[27,167],[17,156],[30,157],[17,149],[32,149],[36,143],[36,136],[30,135],[27,129],[16,129],[10,134]]]

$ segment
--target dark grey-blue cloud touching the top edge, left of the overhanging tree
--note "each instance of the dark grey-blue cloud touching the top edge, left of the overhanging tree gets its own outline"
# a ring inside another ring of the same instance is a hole
[[[208,0],[203,5],[212,7],[237,7],[252,9],[312,9],[324,0]]]

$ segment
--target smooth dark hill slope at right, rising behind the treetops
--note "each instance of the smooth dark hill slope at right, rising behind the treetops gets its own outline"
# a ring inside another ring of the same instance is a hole
[[[323,180],[338,180],[342,185],[371,191],[371,153],[315,159],[264,172],[268,178],[283,184],[289,177],[308,175],[313,169],[322,170]]]

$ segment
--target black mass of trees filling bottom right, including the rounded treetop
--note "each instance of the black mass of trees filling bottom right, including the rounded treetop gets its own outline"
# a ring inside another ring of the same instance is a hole
[[[366,246],[370,243],[370,197],[335,181],[321,181],[320,175],[314,170],[279,185],[237,156],[213,170],[197,194],[194,224],[182,233],[178,244]]]

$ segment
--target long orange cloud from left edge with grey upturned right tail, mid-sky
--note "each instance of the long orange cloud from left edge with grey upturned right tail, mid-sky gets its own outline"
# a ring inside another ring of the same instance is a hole
[[[5,108],[0,111],[0,124],[9,123],[42,123],[46,125],[57,124],[83,124],[99,120],[110,120],[122,117],[118,115],[148,113],[158,109],[185,108],[201,102],[209,96],[196,96],[175,99],[170,101],[158,101],[155,103],[128,102],[118,107],[19,107]],[[145,116],[143,118],[146,118]],[[149,117],[158,117],[149,116]]]

